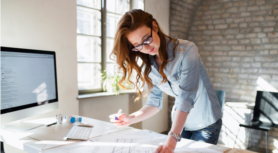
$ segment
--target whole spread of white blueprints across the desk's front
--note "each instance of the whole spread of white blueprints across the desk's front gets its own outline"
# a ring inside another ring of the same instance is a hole
[[[167,137],[149,130],[115,133],[40,151],[40,153],[152,153],[158,145],[165,143]],[[175,153],[222,153],[208,148],[209,146],[213,145],[182,139],[177,143]]]

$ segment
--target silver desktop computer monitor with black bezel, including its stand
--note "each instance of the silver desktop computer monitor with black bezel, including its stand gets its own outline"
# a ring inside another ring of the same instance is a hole
[[[17,120],[58,109],[55,52],[1,47],[0,55],[1,122],[21,130],[42,126]]]

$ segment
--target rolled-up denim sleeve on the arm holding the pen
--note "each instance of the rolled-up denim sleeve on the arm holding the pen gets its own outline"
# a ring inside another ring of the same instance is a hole
[[[146,88],[148,89],[147,85]],[[154,85],[151,91],[148,94],[148,100],[146,105],[151,105],[158,107],[159,110],[162,109],[162,90],[158,88],[158,86]]]

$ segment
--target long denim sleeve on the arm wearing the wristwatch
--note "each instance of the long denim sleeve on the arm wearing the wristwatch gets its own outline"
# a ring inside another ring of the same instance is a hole
[[[200,79],[198,48],[193,42],[187,45],[181,64],[182,72],[175,108],[190,112],[194,106]]]

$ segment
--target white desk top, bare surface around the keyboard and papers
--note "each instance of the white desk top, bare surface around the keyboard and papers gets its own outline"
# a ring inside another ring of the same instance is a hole
[[[33,123],[42,123],[45,125],[51,124],[55,122],[55,117],[44,118],[33,120],[29,122]],[[91,132],[89,138],[94,138],[101,136],[103,134],[111,134],[111,133],[126,133],[131,131],[139,131],[139,129],[134,129],[132,127],[125,128],[117,128],[113,125],[113,123],[99,121],[87,117],[82,117],[82,122],[84,123],[93,123],[94,128]],[[71,129],[72,125],[68,125],[65,121],[62,124],[55,124],[53,126],[45,127],[40,126],[32,130],[24,131],[24,130],[16,130],[9,129],[4,126],[1,126],[0,135],[1,141],[7,143],[8,145],[14,146],[21,150],[27,151],[29,153],[47,153],[47,152],[63,152],[65,149],[74,148],[75,146],[83,146],[91,143],[91,141],[81,141],[75,139],[67,139],[63,140],[64,136],[66,136],[67,132]],[[192,140],[187,140],[188,142],[193,142]],[[197,142],[200,146],[205,146],[207,148],[214,149],[216,151],[220,151],[223,153],[227,153],[232,150],[231,148],[211,145],[203,142]],[[89,146],[88,146],[89,148]],[[88,149],[87,148],[87,149]],[[84,150],[81,152],[91,152]]]

